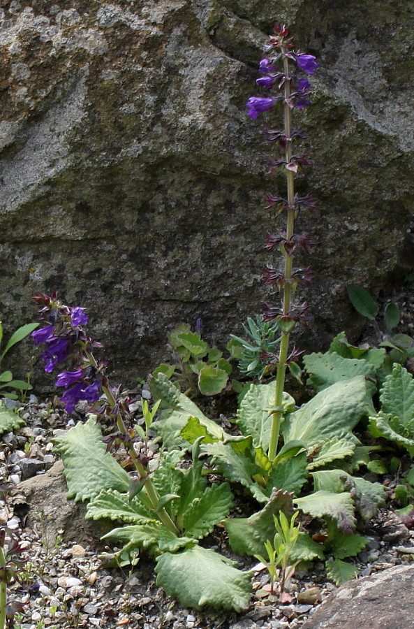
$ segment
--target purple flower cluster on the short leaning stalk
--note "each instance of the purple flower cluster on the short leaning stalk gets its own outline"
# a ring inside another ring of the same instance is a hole
[[[38,293],[34,301],[40,309],[40,320],[46,325],[31,333],[35,345],[45,344],[42,359],[45,361],[45,372],[51,373],[63,361],[69,361],[73,370],[58,374],[56,386],[64,386],[66,391],[61,396],[66,411],[73,412],[75,404],[80,400],[97,402],[101,396],[101,386],[106,363],[97,362],[91,349],[103,347],[101,343],[87,337],[83,326],[89,317],[84,308],[71,308],[61,303],[57,294],[45,295]]]

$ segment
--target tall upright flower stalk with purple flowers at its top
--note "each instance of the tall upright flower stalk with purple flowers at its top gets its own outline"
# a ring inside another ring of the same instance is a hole
[[[304,133],[292,126],[292,111],[309,105],[307,98],[311,84],[306,78],[297,78],[296,70],[306,74],[313,74],[318,67],[313,55],[305,55],[293,50],[293,41],[289,37],[288,29],[282,24],[274,25],[274,35],[265,45],[265,57],[260,61],[259,70],[264,76],[256,83],[267,90],[276,89],[279,94],[266,97],[252,97],[247,101],[248,113],[256,120],[260,113],[276,108],[283,113],[283,130],[266,129],[267,139],[276,143],[281,154],[277,159],[269,159],[269,173],[281,169],[286,175],[286,197],[267,194],[266,208],[276,208],[276,215],[286,212],[286,231],[278,231],[275,235],[266,234],[266,249],[272,250],[278,245],[283,256],[281,268],[266,266],[263,277],[266,284],[276,282],[281,292],[281,308],[265,306],[265,321],[276,319],[281,332],[279,355],[273,356],[276,363],[276,390],[274,408],[272,409],[272,428],[269,442],[268,456],[273,461],[276,457],[277,446],[283,419],[283,390],[285,386],[286,370],[298,376],[295,360],[301,352],[293,349],[289,354],[290,333],[297,321],[309,319],[307,304],[294,303],[298,284],[311,282],[313,272],[310,267],[295,269],[293,267],[294,252],[298,246],[307,251],[313,244],[309,234],[295,234],[295,217],[302,209],[312,209],[316,203],[311,195],[300,197],[295,193],[295,177],[300,169],[309,164],[306,154],[295,154],[293,147],[297,140],[305,138]],[[291,71],[291,68],[293,71]]]

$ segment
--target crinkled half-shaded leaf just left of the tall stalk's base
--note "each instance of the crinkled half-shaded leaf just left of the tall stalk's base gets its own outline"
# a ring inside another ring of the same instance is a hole
[[[254,462],[251,438],[226,444],[221,442],[206,444],[202,450],[212,456],[214,465],[224,477],[242,483],[245,487],[253,484],[253,476],[263,472]]]

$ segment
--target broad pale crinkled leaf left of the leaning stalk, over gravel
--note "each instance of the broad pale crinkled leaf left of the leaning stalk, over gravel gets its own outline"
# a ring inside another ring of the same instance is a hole
[[[129,476],[102,442],[101,426],[92,416],[55,440],[64,462],[68,498],[88,500],[102,489],[128,493]]]

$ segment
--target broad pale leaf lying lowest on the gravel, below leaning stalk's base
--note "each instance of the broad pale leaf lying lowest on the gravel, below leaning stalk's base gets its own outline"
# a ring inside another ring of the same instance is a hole
[[[194,546],[179,554],[158,557],[156,584],[182,605],[202,609],[235,609],[249,606],[253,572],[242,572],[235,563],[211,549]]]

